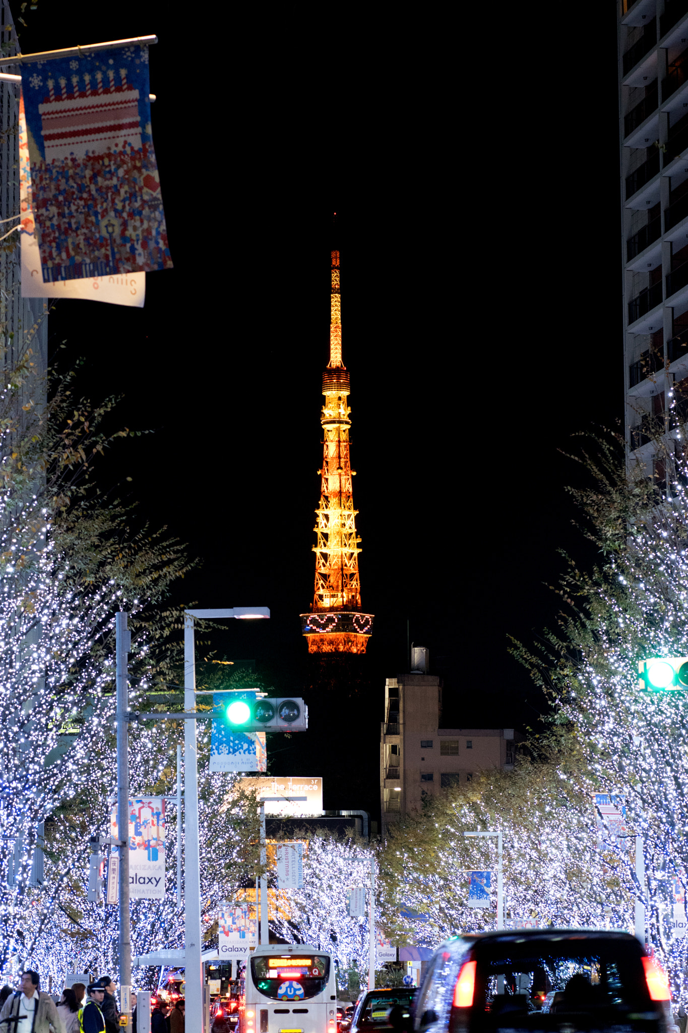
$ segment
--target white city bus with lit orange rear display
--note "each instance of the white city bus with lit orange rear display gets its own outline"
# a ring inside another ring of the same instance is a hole
[[[336,1033],[334,959],[309,944],[260,946],[247,962],[241,1033]]]

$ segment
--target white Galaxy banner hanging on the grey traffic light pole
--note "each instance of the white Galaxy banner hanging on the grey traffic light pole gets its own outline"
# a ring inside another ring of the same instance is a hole
[[[112,839],[120,839],[117,803],[110,815],[110,833]],[[162,796],[135,796],[129,801],[128,840],[129,896],[162,900],[165,896],[165,801]],[[114,849],[119,853],[119,847]]]

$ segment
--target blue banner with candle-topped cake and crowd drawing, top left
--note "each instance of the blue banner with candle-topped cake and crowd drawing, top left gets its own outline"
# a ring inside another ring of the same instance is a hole
[[[45,283],[171,269],[148,46],[22,66]]]

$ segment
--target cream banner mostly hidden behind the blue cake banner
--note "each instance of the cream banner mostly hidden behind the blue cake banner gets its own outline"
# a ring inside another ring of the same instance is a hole
[[[145,273],[126,273],[124,276],[94,276],[89,280],[62,280],[59,283],[43,283],[38,239],[33,219],[29,144],[22,94],[20,94],[19,134],[22,298],[74,298],[142,308],[145,301]]]

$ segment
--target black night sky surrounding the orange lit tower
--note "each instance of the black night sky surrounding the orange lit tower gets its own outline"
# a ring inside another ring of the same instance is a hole
[[[525,729],[543,712],[506,636],[532,641],[553,623],[543,583],[562,569],[558,547],[594,559],[564,491],[580,474],[558,449],[622,417],[605,7],[585,32],[550,12],[547,61],[532,20],[504,26],[474,96],[413,34],[373,72],[350,25],[359,63],[337,65],[343,43],[328,42],[330,79],[325,24],[289,57],[280,33],[296,40],[298,25],[216,31],[206,12],[197,33],[170,4],[70,2],[66,18],[39,0],[18,25],[25,53],[159,36],[153,136],[174,270],[148,276],[143,310],[60,302],[51,353],[63,370],[83,356],[83,393],[122,395],[118,424],[155,432],[118,444],[99,483],[202,561],[175,601],[270,607],[212,646],[305,692],[312,730],[275,737],[271,770],[324,774],[326,807],[376,816],[384,680],[406,668],[407,629],[445,680],[453,726]],[[326,688],[298,615],[313,598],[333,211],[375,630]]]

